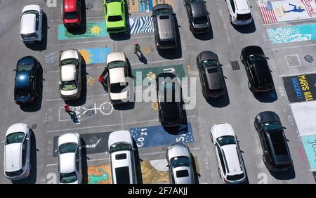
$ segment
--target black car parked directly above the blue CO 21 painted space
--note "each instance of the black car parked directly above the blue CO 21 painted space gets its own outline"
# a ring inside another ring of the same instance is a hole
[[[162,73],[156,83],[159,121],[162,126],[179,126],[183,121],[180,81],[175,74]]]

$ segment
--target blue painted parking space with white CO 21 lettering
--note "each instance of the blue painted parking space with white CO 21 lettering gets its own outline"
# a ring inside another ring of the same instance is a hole
[[[171,145],[173,143],[192,143],[194,136],[191,123],[180,126],[180,135],[171,135],[162,126],[147,126],[142,128],[131,128],[131,136],[138,147],[158,147]]]

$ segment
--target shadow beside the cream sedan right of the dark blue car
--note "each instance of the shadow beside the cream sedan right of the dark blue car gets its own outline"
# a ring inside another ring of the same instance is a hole
[[[81,95],[80,98],[77,100],[65,100],[65,103],[67,105],[70,105],[72,107],[79,107],[81,105],[86,104],[86,93],[87,93],[87,84],[86,84],[86,76],[88,73],[86,73],[86,61],[81,56]]]

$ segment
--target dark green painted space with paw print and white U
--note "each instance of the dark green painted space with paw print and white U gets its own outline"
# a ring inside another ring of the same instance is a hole
[[[142,86],[144,79],[150,79],[154,81],[158,74],[163,72],[172,72],[180,79],[185,77],[185,71],[183,65],[168,65],[163,67],[146,67],[137,68],[132,70],[132,74],[136,79],[134,79],[134,84],[136,86]]]

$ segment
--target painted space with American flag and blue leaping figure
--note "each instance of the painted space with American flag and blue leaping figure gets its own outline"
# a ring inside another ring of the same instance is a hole
[[[316,18],[315,0],[282,0],[259,2],[264,23]]]

